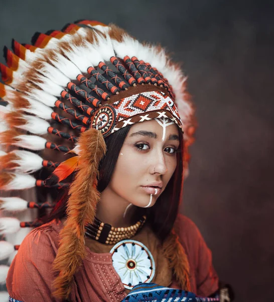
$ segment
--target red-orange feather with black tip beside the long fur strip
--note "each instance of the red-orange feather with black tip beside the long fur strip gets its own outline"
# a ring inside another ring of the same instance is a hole
[[[61,163],[44,181],[46,186],[52,186],[66,179],[78,166],[79,157],[74,156]]]

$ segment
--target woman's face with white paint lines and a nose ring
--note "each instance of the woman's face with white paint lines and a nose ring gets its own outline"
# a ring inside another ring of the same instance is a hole
[[[123,143],[108,185],[117,197],[139,206],[153,206],[172,177],[179,148],[175,124],[156,120],[134,124]]]

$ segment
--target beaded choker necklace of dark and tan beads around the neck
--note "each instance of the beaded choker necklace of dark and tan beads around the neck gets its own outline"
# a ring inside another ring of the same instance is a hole
[[[116,244],[117,242],[133,237],[139,230],[141,230],[147,217],[143,216],[135,224],[127,226],[126,228],[113,228],[108,223],[94,218],[94,222],[85,226],[85,236],[95,239],[100,243]]]

